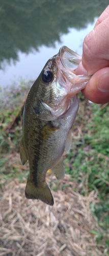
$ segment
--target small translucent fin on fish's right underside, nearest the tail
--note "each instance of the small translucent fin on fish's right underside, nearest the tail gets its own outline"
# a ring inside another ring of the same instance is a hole
[[[58,180],[64,179],[65,176],[65,168],[63,163],[63,158],[61,158],[55,166],[51,168],[52,173],[56,176]]]

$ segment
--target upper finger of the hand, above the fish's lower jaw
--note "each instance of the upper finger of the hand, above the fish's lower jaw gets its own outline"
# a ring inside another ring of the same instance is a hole
[[[109,15],[84,39],[82,63],[88,75],[109,67]]]

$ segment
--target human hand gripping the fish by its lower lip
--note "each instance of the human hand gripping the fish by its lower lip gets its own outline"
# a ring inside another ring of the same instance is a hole
[[[85,37],[76,75],[92,75],[82,93],[92,102],[109,102],[109,5]]]

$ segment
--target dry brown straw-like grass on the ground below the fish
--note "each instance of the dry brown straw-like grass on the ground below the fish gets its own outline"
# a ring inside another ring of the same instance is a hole
[[[75,184],[65,175],[64,191],[52,190],[53,206],[25,198],[25,183],[18,180],[2,186],[0,204],[0,256],[104,256],[103,244],[96,245],[91,229],[100,230],[90,214],[90,202],[97,203],[94,191],[88,197],[75,193]],[[52,188],[55,186],[55,177]],[[50,178],[47,177],[49,184]]]

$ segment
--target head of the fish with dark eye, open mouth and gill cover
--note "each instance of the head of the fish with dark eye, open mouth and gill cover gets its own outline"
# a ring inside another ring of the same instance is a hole
[[[65,113],[73,97],[86,87],[90,76],[76,75],[75,69],[81,57],[63,46],[59,53],[50,58],[36,80],[38,106],[34,98],[33,107],[44,118],[56,119]]]

